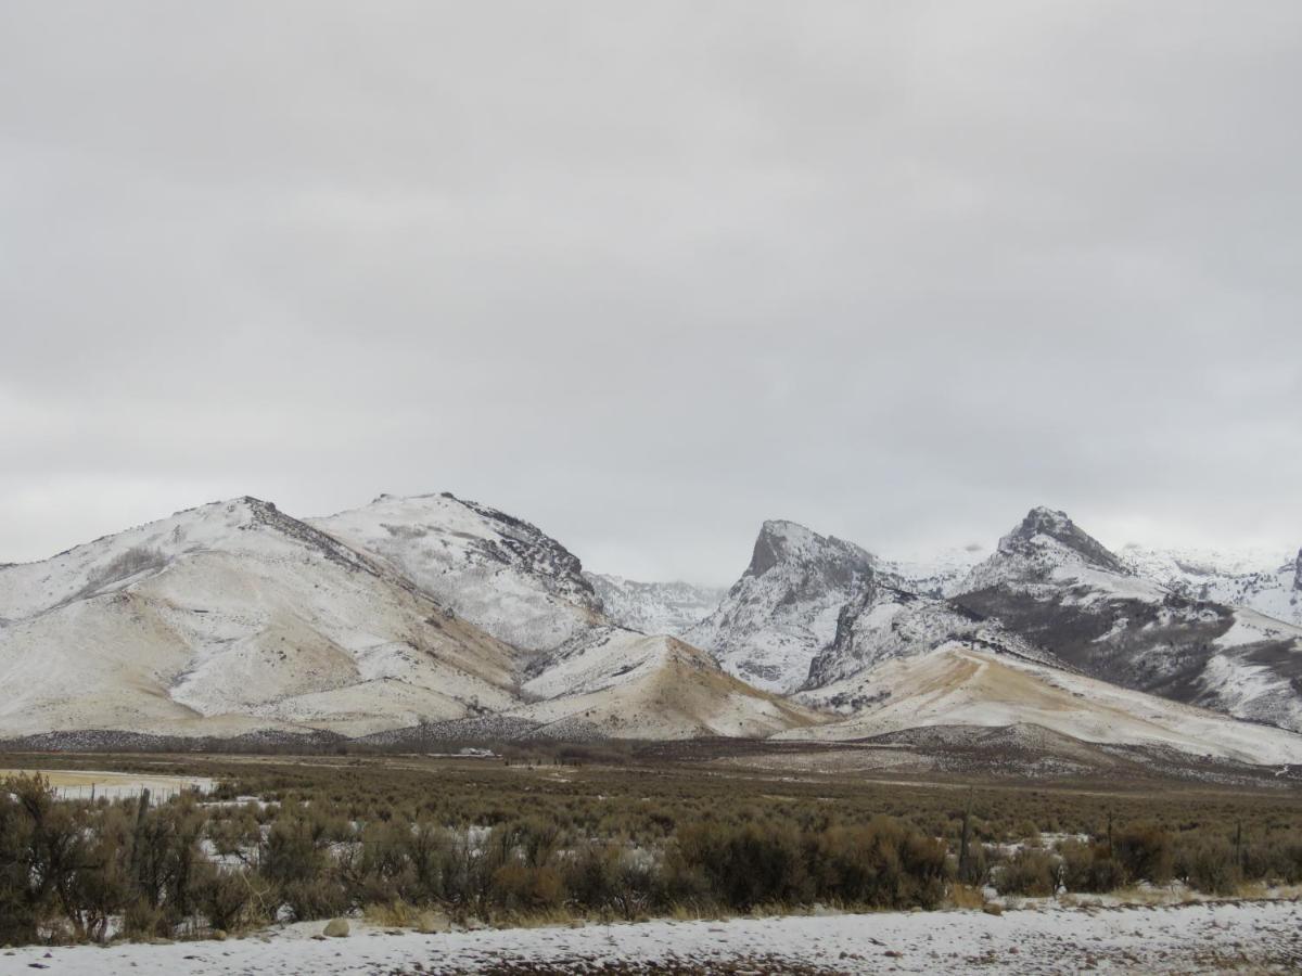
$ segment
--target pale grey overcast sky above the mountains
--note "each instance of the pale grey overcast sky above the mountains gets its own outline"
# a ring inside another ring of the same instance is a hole
[[[1302,545],[1302,4],[0,3],[0,561],[449,489],[729,582]]]

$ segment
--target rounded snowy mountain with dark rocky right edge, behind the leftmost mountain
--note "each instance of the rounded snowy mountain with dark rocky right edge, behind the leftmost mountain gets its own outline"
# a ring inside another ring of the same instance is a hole
[[[374,553],[480,630],[552,651],[605,623],[578,557],[535,526],[450,493],[396,498],[310,524]]]

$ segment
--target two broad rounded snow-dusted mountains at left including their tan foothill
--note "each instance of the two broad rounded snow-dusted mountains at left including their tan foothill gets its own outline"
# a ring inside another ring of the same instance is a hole
[[[450,496],[316,524],[236,498],[3,567],[0,687],[0,738],[816,721],[697,648],[613,626],[564,547]]]

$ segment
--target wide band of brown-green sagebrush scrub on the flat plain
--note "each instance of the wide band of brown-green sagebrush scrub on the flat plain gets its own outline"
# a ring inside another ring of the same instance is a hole
[[[206,803],[147,807],[55,803],[29,777],[0,785],[0,942],[174,937],[352,911],[393,924],[638,919],[931,908],[975,903],[986,884],[1051,895],[1178,880],[1224,894],[1302,881],[1302,803],[1290,794],[1173,802],[777,779],[592,753],[109,763],[184,766],[220,786]],[[1042,832],[1087,839],[1043,848]]]

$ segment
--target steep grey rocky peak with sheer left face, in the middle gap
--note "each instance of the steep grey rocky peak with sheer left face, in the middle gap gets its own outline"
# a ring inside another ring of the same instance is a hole
[[[682,636],[713,653],[729,674],[792,692],[836,636],[841,608],[872,574],[872,556],[854,543],[794,522],[766,522],[741,579]]]

